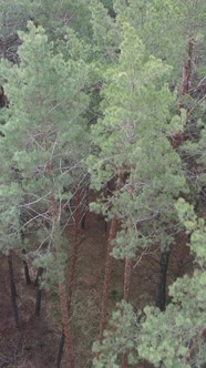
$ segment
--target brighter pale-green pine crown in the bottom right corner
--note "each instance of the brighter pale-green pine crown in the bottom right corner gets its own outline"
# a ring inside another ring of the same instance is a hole
[[[158,366],[190,367],[205,362],[204,336],[206,324],[205,288],[206,277],[196,270],[193,277],[184,276],[169,288],[173,303],[165,313],[147,307],[146,319],[142,326],[138,354]]]

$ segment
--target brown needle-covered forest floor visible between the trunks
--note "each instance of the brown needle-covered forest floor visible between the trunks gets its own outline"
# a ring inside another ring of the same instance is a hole
[[[92,367],[92,344],[99,335],[102,305],[102,286],[106,255],[104,221],[92,213],[86,216],[85,231],[81,232],[75,283],[72,296],[71,331],[76,368]],[[68,237],[71,238],[70,231]],[[184,268],[181,264],[184,248]],[[181,260],[179,260],[181,259]],[[35,287],[25,285],[22,260],[13,257],[17,283],[20,327],[16,328],[10,300],[7,257],[0,257],[0,367],[55,368],[61,316],[56,290],[43,293],[41,316],[34,316]],[[181,234],[174,245],[168,269],[168,285],[184,273],[192,272],[193,263]],[[30,268],[34,280],[34,269]],[[124,263],[112,262],[109,310],[115,308],[123,295]],[[158,282],[157,251],[143,252],[133,264],[130,301],[135,309],[155,304]],[[144,367],[147,367],[146,365]],[[66,368],[66,358],[62,358]],[[106,368],[106,367],[105,367]],[[142,368],[138,365],[138,368]]]

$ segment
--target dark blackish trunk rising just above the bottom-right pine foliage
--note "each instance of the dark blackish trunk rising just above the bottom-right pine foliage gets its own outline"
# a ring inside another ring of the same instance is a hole
[[[157,289],[156,306],[163,311],[166,306],[166,280],[168,269],[169,252],[161,252],[159,255],[159,279]]]

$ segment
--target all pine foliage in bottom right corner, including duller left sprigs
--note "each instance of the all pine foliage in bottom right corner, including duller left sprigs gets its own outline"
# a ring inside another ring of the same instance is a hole
[[[179,202],[178,208],[181,206],[184,206],[183,202]],[[185,204],[185,214],[188,211],[190,212]],[[179,209],[181,217],[182,214]],[[112,316],[110,330],[104,334],[103,344],[94,345],[94,351],[100,354],[99,359],[94,359],[95,367],[106,367],[110,362],[113,362],[111,367],[121,367],[119,357],[124,351],[128,352],[128,361],[134,366],[140,359],[146,359],[155,367],[162,364],[165,368],[187,368],[193,364],[200,367],[206,362],[206,254],[198,222],[196,225],[189,246],[196,254],[200,268],[196,268],[193,276],[177,278],[169,287],[172,303],[165,311],[147,306],[140,318],[131,305],[119,305],[117,311]],[[190,231],[190,225],[188,229]]]

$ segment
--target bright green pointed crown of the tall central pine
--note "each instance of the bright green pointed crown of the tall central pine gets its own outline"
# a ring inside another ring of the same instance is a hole
[[[147,57],[128,23],[122,24],[121,37],[119,62],[104,76],[104,117],[92,126],[96,153],[87,162],[96,190],[123,175],[121,172],[127,173],[121,191],[106,198],[110,204],[105,206],[105,198],[102,202],[102,213],[105,215],[105,207],[110,208],[109,218],[116,215],[122,225],[113,256],[125,258],[134,257],[137,246],[151,244],[151,228],[163,247],[172,243],[173,237],[164,234],[163,223],[167,227],[176,217],[173,205],[186,186],[179,156],[167,140],[181,125],[177,126],[179,119],[172,119],[169,111],[174,96],[165,82],[171,68]],[[145,228],[138,234],[136,224],[145,218],[151,219],[150,231]]]

